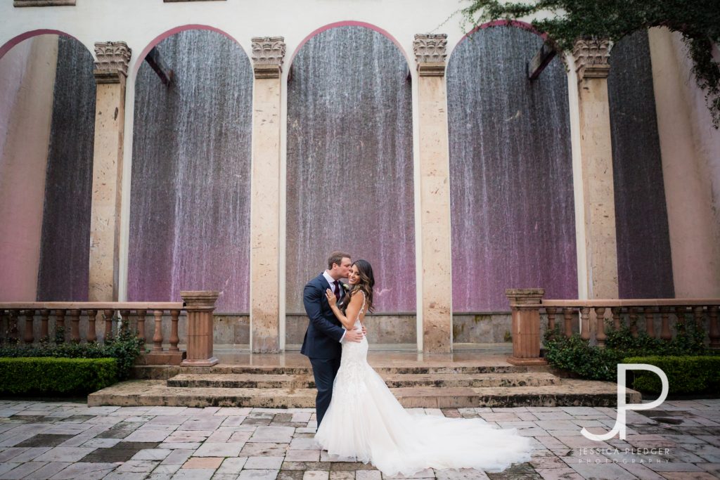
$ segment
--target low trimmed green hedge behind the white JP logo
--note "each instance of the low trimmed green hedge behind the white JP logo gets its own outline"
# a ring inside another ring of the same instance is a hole
[[[720,356],[649,356],[624,358],[623,363],[648,363],[667,375],[671,394],[720,394]],[[632,388],[660,393],[660,377],[635,370]]]

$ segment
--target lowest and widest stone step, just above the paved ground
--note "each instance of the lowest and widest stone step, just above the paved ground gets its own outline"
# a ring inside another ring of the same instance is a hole
[[[548,386],[515,387],[405,387],[390,389],[404,407],[614,407],[616,384],[561,379]],[[628,389],[627,402],[642,398]],[[315,407],[315,389],[176,388],[161,380],[130,380],[88,396],[90,407]]]

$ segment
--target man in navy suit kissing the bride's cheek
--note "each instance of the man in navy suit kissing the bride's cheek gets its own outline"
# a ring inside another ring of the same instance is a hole
[[[315,409],[318,412],[318,427],[333,397],[333,382],[340,368],[342,342],[359,342],[363,333],[357,330],[345,330],[340,320],[330,309],[325,291],[330,289],[339,301],[345,291],[340,279],[346,279],[350,271],[350,255],[343,252],[330,253],[328,269],[307,282],[302,291],[302,303],[310,322],[307,324],[305,340],[300,353],[310,357],[312,374],[318,395],[315,397]]]

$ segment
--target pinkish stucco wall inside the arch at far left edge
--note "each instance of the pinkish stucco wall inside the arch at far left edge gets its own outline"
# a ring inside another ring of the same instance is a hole
[[[0,301],[36,299],[58,37],[0,58]]]

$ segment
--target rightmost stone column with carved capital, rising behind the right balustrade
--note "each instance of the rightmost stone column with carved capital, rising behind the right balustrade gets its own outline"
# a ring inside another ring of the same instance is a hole
[[[585,262],[590,299],[618,297],[608,46],[608,40],[578,40],[572,51],[580,107],[582,208],[585,212]]]

